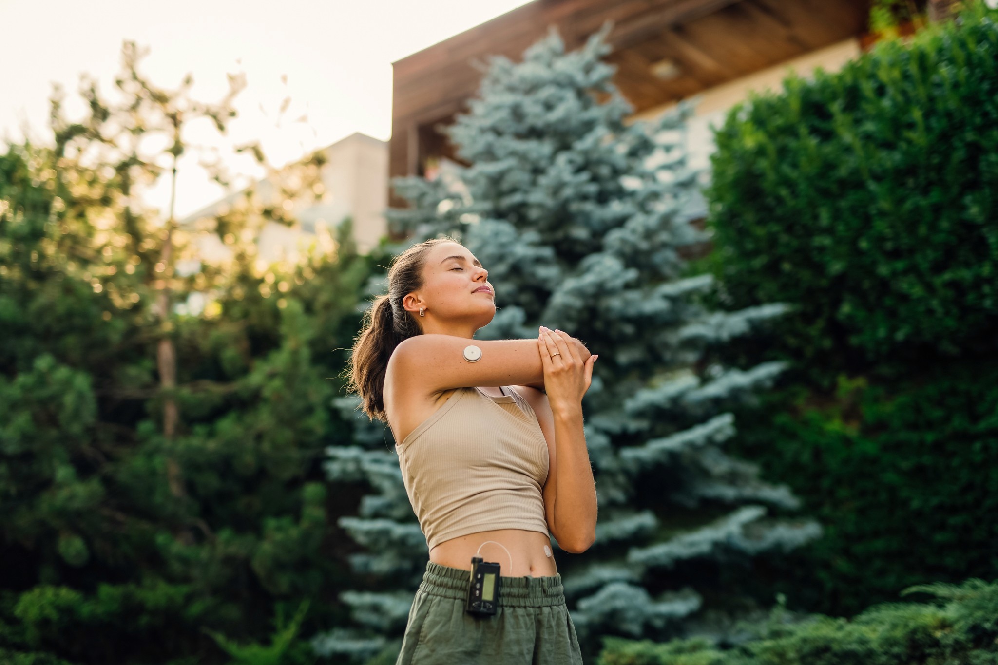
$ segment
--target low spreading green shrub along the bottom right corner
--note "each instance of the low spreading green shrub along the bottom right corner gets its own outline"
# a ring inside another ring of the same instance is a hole
[[[851,621],[793,616],[774,607],[765,621],[743,624],[731,649],[704,640],[656,644],[604,640],[598,665],[993,665],[998,663],[998,580],[919,584],[945,602],[885,602]]]

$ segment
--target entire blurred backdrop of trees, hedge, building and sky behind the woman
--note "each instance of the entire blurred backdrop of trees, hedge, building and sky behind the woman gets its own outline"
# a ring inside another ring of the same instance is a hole
[[[450,236],[600,353],[586,662],[998,663],[998,2],[0,3],[0,662],[393,663],[345,389]]]

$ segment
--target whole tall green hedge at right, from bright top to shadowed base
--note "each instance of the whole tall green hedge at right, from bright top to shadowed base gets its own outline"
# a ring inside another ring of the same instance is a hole
[[[736,584],[851,614],[998,566],[998,11],[733,109],[709,191],[715,297],[793,305],[727,362],[786,360],[734,449],[825,525]],[[695,266],[696,267],[696,266]],[[692,268],[695,269],[695,268]]]

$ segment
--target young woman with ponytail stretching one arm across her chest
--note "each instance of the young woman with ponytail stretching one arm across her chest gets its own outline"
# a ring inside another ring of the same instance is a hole
[[[351,389],[391,428],[429,547],[396,665],[582,663],[550,542],[595,539],[582,397],[597,356],[544,327],[474,340],[495,311],[478,259],[433,238],[392,261],[353,347]],[[492,616],[465,611],[476,555],[500,564]]]

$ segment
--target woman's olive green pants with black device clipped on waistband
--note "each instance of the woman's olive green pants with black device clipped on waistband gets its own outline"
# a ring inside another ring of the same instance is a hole
[[[470,578],[426,562],[395,665],[582,665],[560,573],[502,575],[493,616],[465,612]]]

